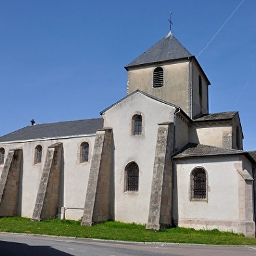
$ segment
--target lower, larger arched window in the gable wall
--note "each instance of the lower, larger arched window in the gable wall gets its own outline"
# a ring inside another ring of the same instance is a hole
[[[131,163],[125,168],[125,191],[138,191],[138,165]]]

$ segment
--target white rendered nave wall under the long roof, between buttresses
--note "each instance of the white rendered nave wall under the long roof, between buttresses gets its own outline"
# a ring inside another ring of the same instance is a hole
[[[23,150],[18,214],[22,217],[32,217],[48,146],[62,142],[63,163],[59,206],[65,208],[63,217],[80,219],[84,210],[94,140],[95,136],[84,136],[56,140],[1,143],[0,147],[5,148],[5,157],[8,150],[16,148],[22,148]],[[89,161],[88,163],[80,163],[80,144],[85,141],[89,143]],[[37,145],[42,146],[42,163],[35,165],[34,156]],[[3,165],[0,165],[0,175],[2,171]]]

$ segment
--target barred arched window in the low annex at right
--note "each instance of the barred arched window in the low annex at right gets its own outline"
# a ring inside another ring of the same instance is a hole
[[[203,168],[191,172],[191,199],[206,199],[206,172]]]

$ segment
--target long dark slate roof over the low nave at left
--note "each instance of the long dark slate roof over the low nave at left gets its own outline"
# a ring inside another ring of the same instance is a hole
[[[0,137],[0,142],[32,140],[37,138],[56,138],[62,136],[89,135],[103,128],[103,119],[61,121],[29,125],[8,135]]]

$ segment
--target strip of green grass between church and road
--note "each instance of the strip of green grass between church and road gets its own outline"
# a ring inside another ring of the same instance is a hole
[[[176,227],[161,231],[146,230],[144,225],[127,224],[114,221],[81,226],[79,221],[47,219],[31,221],[24,217],[2,217],[0,232],[27,234],[49,234],[55,236],[72,236],[76,238],[98,238],[105,240],[123,240],[133,242],[168,242],[185,244],[251,245],[256,246],[255,238],[245,238],[242,234],[232,232],[195,231]]]

